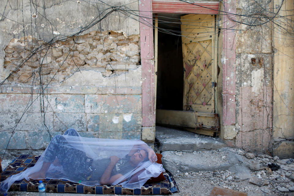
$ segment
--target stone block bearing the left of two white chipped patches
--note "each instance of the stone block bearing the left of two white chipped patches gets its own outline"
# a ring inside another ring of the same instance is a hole
[[[99,130],[103,132],[122,132],[122,114],[100,114]]]

